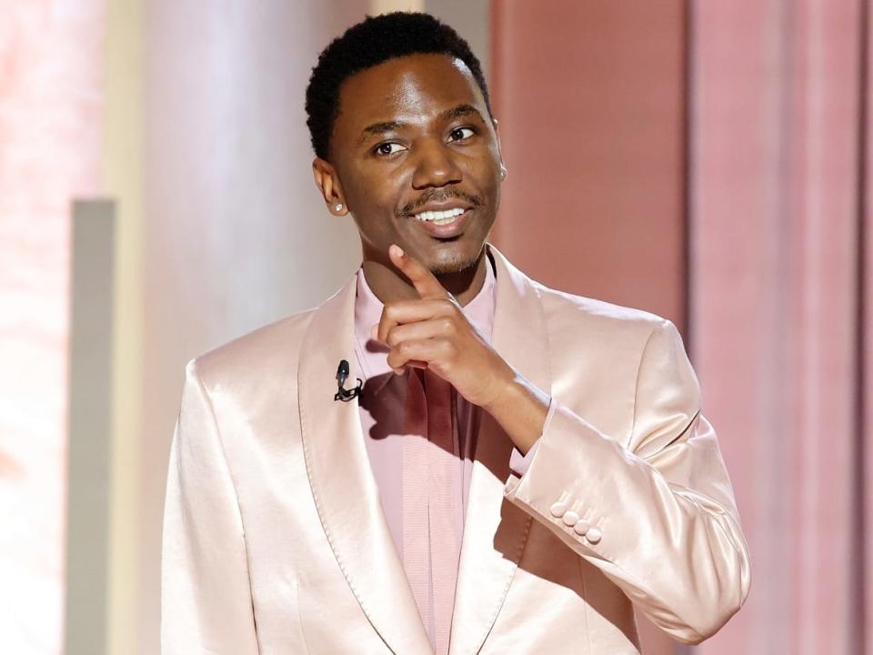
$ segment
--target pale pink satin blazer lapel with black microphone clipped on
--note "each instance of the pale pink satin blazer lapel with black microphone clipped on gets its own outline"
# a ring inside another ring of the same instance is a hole
[[[426,653],[430,643],[379,501],[357,399],[334,400],[340,359],[355,379],[355,297],[353,276],[306,330],[297,369],[306,472],[327,540],[367,619],[395,653]]]

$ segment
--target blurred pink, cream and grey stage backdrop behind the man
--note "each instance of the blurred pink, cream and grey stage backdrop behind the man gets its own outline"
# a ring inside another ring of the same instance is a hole
[[[304,90],[395,9],[483,61],[497,247],[685,338],[752,589],[646,652],[873,653],[865,0],[0,0],[0,652],[158,652],[183,368],[356,270]]]

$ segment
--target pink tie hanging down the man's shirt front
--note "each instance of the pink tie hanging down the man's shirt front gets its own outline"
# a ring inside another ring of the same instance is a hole
[[[446,655],[460,543],[453,493],[460,476],[452,386],[429,369],[410,368],[403,445],[403,566],[437,655]],[[431,607],[431,601],[433,607]],[[431,621],[433,615],[433,624]]]

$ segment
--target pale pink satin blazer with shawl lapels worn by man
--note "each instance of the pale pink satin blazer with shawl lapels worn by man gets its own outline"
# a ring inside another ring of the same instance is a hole
[[[488,245],[493,347],[554,413],[529,469],[483,413],[452,655],[638,653],[634,608],[675,639],[716,632],[749,559],[716,434],[668,320],[544,287]],[[420,655],[356,401],[356,277],[186,367],[166,486],[166,655]]]

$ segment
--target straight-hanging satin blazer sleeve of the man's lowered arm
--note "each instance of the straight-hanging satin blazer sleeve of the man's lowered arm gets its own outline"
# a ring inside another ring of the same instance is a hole
[[[166,482],[161,651],[257,653],[236,489],[195,361],[186,367]]]

